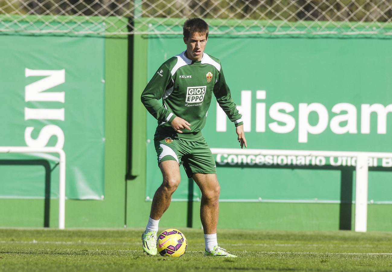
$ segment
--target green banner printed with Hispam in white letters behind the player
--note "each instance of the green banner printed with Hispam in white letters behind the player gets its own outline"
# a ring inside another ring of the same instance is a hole
[[[205,52],[221,60],[243,114],[248,148],[392,152],[392,40],[214,37]],[[149,39],[149,78],[185,50],[182,38]],[[148,117],[147,199],[162,176]],[[234,124],[216,102],[203,135],[210,148],[239,148]],[[355,160],[346,157],[215,154],[221,201],[351,203]],[[392,203],[392,159],[369,160],[370,203]],[[181,170],[173,199],[187,199]],[[197,187],[197,186],[195,186]],[[195,189],[194,199],[200,198]]]

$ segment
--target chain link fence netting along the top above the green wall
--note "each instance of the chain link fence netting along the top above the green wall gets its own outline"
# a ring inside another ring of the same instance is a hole
[[[392,0],[0,0],[0,31],[178,34],[186,18],[211,34],[392,38]]]

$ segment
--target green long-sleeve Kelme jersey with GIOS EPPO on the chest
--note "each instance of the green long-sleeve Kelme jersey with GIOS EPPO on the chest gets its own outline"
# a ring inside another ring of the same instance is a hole
[[[243,124],[234,104],[220,61],[203,53],[200,61],[192,61],[185,51],[164,62],[142,93],[142,103],[158,120],[157,131],[184,139],[201,135],[207,120],[212,94],[235,126]],[[162,99],[162,102],[160,101]],[[176,133],[171,127],[175,117],[191,124],[191,131]]]

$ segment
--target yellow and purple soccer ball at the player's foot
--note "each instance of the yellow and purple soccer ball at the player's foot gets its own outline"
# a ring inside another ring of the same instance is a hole
[[[185,235],[175,228],[168,228],[161,232],[156,243],[159,254],[171,257],[181,257],[188,246]]]

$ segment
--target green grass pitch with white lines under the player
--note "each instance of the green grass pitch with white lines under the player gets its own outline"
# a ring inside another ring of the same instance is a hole
[[[388,232],[218,230],[229,259],[203,257],[202,230],[180,230],[188,248],[174,258],[146,256],[142,229],[0,228],[0,271],[392,271]]]

